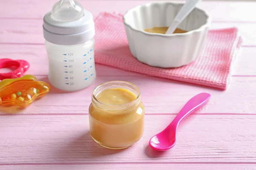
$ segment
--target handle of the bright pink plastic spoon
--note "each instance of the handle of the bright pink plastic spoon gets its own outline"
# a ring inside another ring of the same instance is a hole
[[[193,113],[195,110],[200,108],[202,105],[207,103],[210,99],[211,95],[208,93],[197,94],[192,97],[180,110],[175,119],[172,121],[172,125],[179,125],[179,123],[185,119],[189,114]]]

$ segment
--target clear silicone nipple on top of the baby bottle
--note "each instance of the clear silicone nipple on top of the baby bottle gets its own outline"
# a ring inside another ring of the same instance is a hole
[[[84,16],[84,9],[75,0],[59,0],[52,7],[52,19],[59,22],[71,22]]]

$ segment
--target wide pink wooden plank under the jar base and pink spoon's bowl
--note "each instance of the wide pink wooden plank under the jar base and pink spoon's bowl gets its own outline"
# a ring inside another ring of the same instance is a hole
[[[125,150],[94,142],[88,116],[1,116],[0,164],[111,162],[240,162],[256,163],[256,116],[191,115],[177,130],[177,144],[166,152],[148,146],[174,115],[145,116],[145,133]],[[160,123],[161,122],[161,123]]]

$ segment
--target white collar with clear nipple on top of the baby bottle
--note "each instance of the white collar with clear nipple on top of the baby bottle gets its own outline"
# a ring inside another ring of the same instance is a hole
[[[93,15],[74,0],[60,0],[44,15],[44,38],[58,45],[76,45],[95,35]]]

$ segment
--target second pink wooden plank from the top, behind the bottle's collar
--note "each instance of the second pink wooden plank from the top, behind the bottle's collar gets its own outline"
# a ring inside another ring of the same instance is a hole
[[[2,23],[0,24],[0,43],[44,44],[42,22],[43,20],[0,18]],[[230,27],[239,28],[244,38],[244,46],[256,46],[256,23],[211,23],[210,25],[210,29]]]

